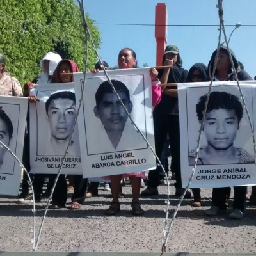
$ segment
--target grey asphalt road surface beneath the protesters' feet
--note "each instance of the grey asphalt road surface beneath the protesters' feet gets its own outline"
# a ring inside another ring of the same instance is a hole
[[[172,216],[179,198],[173,196],[175,193],[173,185],[170,189],[170,216]],[[124,187],[123,192],[126,196],[120,200],[121,211],[116,216],[104,215],[104,210],[108,208],[111,200],[110,192],[104,191],[104,187],[99,187],[98,197],[86,199],[81,210],[71,211],[68,208],[49,210],[38,251],[105,252],[102,255],[112,252],[160,255],[164,209],[166,209],[166,185],[159,186],[159,195],[141,198],[145,215],[140,217],[131,214],[131,186]],[[71,195],[72,193],[68,194],[67,206],[71,204]],[[200,208],[191,207],[191,200],[182,202],[170,232],[166,252],[178,253],[177,255],[256,253],[256,206],[248,205],[243,220],[228,218],[228,213],[232,211],[231,207],[227,209],[226,214],[210,218],[204,215],[204,210],[211,206],[211,189],[202,189],[202,197],[203,206]],[[36,203],[37,232],[46,201],[45,198],[41,203]],[[228,204],[232,206],[232,196]],[[0,221],[0,251],[29,252],[32,250],[31,204],[17,204],[17,198],[0,197]],[[4,253],[0,252],[0,255],[4,256]]]

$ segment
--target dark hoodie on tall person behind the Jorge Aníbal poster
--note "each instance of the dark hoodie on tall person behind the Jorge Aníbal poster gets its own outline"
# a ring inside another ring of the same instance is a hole
[[[227,50],[226,46],[221,45],[220,50],[225,51],[228,54],[228,50]],[[245,70],[237,70],[238,61],[237,61],[236,55],[234,54],[234,52],[231,49],[230,49],[230,52],[231,52],[232,60],[234,62],[234,66],[236,68],[238,80],[239,81],[253,80],[252,77],[250,77],[250,75]],[[216,53],[217,53],[217,49],[212,53],[211,60],[208,63],[207,75],[208,75],[209,80],[211,80]],[[217,70],[215,71],[215,74],[216,73],[217,73]],[[230,70],[228,72],[228,77],[227,77],[226,81],[234,81],[234,80],[236,80],[236,77],[234,75],[234,70],[232,70],[232,67],[230,65]],[[214,79],[213,81],[216,81],[216,79]]]

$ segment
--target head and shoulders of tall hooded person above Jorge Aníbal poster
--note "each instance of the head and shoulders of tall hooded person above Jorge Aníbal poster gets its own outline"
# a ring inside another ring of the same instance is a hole
[[[252,77],[245,71],[239,69],[239,62],[236,58],[234,52],[230,49],[234,67],[236,68],[237,78],[239,81],[253,80]],[[216,58],[217,49],[212,53],[211,60],[208,63],[207,67],[207,76],[211,80],[214,60]],[[236,76],[232,68],[231,62],[229,60],[228,49],[225,45],[220,46],[220,52],[218,56],[217,66],[214,74],[214,81],[234,81]]]

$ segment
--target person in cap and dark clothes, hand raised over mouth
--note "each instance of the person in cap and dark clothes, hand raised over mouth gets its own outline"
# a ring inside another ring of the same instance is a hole
[[[168,45],[164,51],[163,66],[170,66],[159,70],[159,77],[162,84],[185,83],[188,70],[182,68],[182,58],[179,48],[176,45]],[[177,86],[172,88],[162,87],[162,98],[154,108],[154,131],[156,154],[161,158],[167,134],[170,138],[172,170],[175,170],[176,183],[175,195],[180,196],[184,192],[181,184],[180,173],[180,132],[179,132],[179,110]],[[141,196],[158,195],[161,168],[157,165],[156,170],[148,173],[148,186],[141,192]],[[187,191],[185,198],[190,198],[191,193]]]

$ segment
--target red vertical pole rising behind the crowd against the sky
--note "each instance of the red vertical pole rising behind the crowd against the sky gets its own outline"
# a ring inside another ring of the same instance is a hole
[[[164,49],[166,47],[167,33],[167,8],[165,3],[156,5],[155,16],[155,38],[156,38],[156,65],[161,66],[163,60]]]

